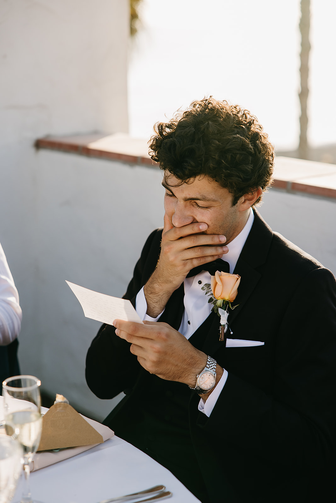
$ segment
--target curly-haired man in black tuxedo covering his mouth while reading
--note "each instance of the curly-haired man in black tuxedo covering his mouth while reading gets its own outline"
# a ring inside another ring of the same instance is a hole
[[[252,210],[272,181],[273,147],[248,111],[210,98],[158,124],[151,149],[164,227],[124,296],[145,324],[103,325],[87,355],[92,391],[126,395],[105,424],[203,502],[324,500],[336,285]],[[241,277],[224,341],[202,290],[208,266]]]

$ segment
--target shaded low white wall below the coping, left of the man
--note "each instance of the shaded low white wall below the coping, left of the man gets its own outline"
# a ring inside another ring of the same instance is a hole
[[[22,372],[102,419],[110,401],[85,382],[85,357],[101,323],[85,318],[65,280],[121,297],[146,237],[163,224],[160,170],[40,150],[36,153],[29,280],[17,275],[24,312]],[[22,250],[16,254],[20,256]]]

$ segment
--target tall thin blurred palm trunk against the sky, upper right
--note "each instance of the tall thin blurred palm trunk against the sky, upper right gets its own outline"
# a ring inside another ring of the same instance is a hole
[[[309,145],[307,139],[308,129],[308,75],[309,75],[309,28],[310,28],[310,0],[301,0],[301,19],[300,19],[300,34],[301,34],[301,53],[300,53],[300,81],[301,89],[299,93],[301,116],[300,116],[300,139],[298,156],[300,159],[309,158]]]

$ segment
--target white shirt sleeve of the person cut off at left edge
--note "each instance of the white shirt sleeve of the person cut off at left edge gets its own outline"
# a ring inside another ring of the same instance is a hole
[[[19,294],[0,244],[0,346],[14,341],[21,329]]]

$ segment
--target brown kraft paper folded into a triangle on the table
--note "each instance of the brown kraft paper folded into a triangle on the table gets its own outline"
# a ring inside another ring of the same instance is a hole
[[[52,405],[42,421],[38,451],[101,444],[103,437],[68,403]]]

